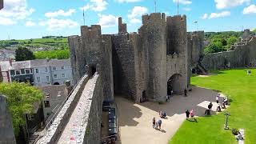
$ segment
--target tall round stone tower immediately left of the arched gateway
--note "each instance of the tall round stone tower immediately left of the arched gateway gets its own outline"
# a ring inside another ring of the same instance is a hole
[[[142,46],[148,50],[149,97],[158,102],[166,98],[166,15],[154,13],[142,16],[139,30]]]

